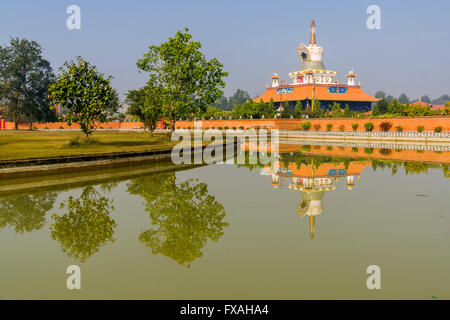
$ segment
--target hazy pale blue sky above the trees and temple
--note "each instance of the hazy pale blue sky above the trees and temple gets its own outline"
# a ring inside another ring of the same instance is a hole
[[[68,30],[66,8],[81,8],[81,30]],[[381,8],[381,29],[366,27],[369,5]],[[229,72],[225,95],[256,96],[272,72],[298,70],[296,48],[316,20],[324,63],[340,82],[354,69],[370,94],[382,89],[410,98],[450,94],[450,2],[433,1],[21,1],[0,2],[0,43],[36,40],[54,69],[78,55],[114,77],[124,94],[145,83],[136,60],[185,26],[208,57]]]

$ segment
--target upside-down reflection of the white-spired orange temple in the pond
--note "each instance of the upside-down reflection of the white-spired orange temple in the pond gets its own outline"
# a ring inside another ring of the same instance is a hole
[[[344,163],[322,163],[315,165],[302,163],[300,167],[294,162],[286,166],[282,161],[276,161],[272,167],[265,167],[265,175],[272,177],[274,189],[282,189],[284,182],[290,179],[288,188],[297,190],[301,200],[297,205],[297,214],[300,218],[307,216],[309,221],[310,238],[314,239],[316,216],[322,213],[322,198],[325,192],[336,190],[335,181],[346,179],[349,190],[355,187],[355,178],[359,179],[361,171],[370,166],[370,161],[352,161],[345,166]]]

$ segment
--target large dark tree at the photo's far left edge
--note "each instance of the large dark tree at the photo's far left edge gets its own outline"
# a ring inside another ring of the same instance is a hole
[[[0,46],[0,99],[16,130],[20,120],[28,120],[31,129],[33,121],[56,119],[47,94],[53,78],[50,62],[42,57],[37,42],[13,38],[9,46]]]

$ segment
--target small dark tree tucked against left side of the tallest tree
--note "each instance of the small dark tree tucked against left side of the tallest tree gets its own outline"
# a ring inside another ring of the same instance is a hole
[[[161,90],[149,84],[137,90],[130,90],[126,98],[130,105],[127,113],[136,116],[150,132],[153,132],[162,117],[162,100]]]

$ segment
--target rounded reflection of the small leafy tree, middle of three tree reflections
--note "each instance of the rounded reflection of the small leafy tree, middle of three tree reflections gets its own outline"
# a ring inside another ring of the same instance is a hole
[[[70,196],[61,203],[61,209],[67,208],[67,213],[52,215],[52,238],[69,257],[85,262],[102,245],[114,242],[117,224],[110,217],[110,211],[114,210],[112,202],[94,187],[85,187],[79,198]]]

